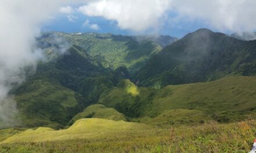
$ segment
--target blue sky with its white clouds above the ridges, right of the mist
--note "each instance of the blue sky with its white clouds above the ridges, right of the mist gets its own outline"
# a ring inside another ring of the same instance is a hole
[[[198,28],[232,34],[255,30],[255,0],[95,0],[67,3],[42,31],[156,34],[181,38]]]

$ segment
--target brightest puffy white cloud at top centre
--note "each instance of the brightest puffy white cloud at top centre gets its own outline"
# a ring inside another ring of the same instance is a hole
[[[158,27],[169,5],[169,0],[100,0],[88,2],[78,10],[86,16],[115,20],[122,29],[143,31]]]

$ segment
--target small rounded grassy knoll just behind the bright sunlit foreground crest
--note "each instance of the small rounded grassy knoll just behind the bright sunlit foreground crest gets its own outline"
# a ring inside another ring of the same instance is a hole
[[[90,105],[89,107],[85,108],[83,112],[75,115],[68,125],[72,125],[75,121],[81,118],[105,118],[113,121],[126,121],[125,115],[113,108],[106,108],[101,104]]]

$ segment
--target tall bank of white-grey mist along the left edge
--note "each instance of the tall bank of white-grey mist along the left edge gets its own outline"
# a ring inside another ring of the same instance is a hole
[[[40,25],[58,13],[64,0],[0,1],[0,128],[16,125],[16,101],[9,94],[42,58],[35,47]],[[33,6],[33,7],[31,7]]]

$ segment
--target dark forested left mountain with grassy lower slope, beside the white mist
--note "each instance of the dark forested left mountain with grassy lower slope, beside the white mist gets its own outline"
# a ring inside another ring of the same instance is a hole
[[[52,57],[51,54],[49,56]],[[47,63],[13,91],[22,126],[61,128],[111,90],[117,78],[79,46]]]

